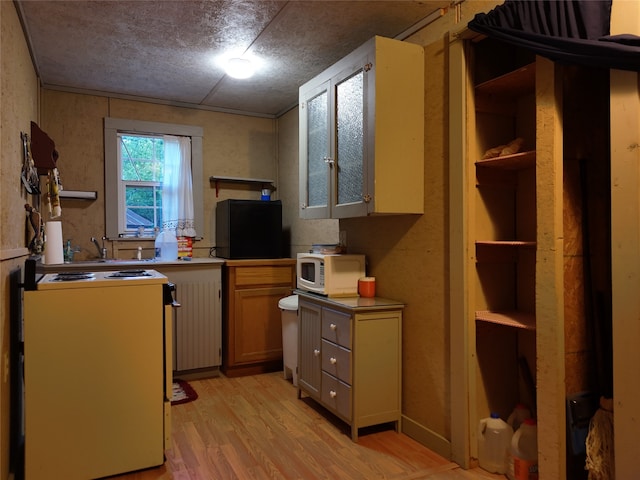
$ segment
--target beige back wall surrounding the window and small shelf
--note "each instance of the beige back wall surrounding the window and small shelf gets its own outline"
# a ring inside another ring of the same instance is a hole
[[[258,187],[230,183],[221,183],[216,196],[210,176],[276,179],[276,120],[43,90],[40,126],[55,141],[60,153],[58,169],[64,188],[98,192],[96,201],[62,199],[63,236],[80,245],[82,252],[78,258],[96,257],[90,237],[100,238],[105,232],[104,117],[203,128],[204,175],[194,181],[202,182],[204,190],[205,231],[203,240],[196,242],[196,256],[208,256],[215,245],[216,202],[227,198],[260,198]],[[278,198],[277,191],[273,198]],[[151,241],[108,242],[110,255],[123,258],[131,258],[130,250],[137,245],[144,247],[144,256],[152,255]]]

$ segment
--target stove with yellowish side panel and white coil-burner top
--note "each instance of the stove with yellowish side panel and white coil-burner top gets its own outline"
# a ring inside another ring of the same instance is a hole
[[[47,274],[25,288],[26,478],[84,480],[164,463],[170,286],[155,270],[122,270]]]

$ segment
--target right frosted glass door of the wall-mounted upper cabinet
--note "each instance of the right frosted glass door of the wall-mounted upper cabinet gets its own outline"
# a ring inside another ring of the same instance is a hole
[[[336,201],[334,216],[340,206],[363,201],[364,194],[364,72],[358,70],[336,81]]]

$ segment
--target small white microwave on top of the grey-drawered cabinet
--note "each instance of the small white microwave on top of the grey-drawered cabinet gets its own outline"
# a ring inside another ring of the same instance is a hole
[[[355,297],[365,276],[365,256],[299,253],[296,266],[300,290],[329,297]]]

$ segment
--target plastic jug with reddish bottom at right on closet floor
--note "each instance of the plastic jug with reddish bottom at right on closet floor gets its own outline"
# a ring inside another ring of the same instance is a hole
[[[538,429],[532,418],[522,422],[513,434],[507,477],[511,480],[538,479]]]

